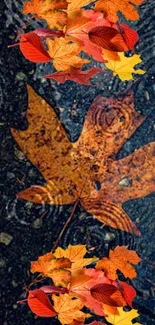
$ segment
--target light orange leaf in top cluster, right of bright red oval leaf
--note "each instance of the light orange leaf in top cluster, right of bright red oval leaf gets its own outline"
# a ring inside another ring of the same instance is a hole
[[[89,61],[81,59],[77,54],[81,51],[80,46],[76,43],[68,43],[63,37],[55,40],[47,39],[49,55],[53,59],[53,65],[58,71],[66,71],[70,66],[81,68],[84,63]]]

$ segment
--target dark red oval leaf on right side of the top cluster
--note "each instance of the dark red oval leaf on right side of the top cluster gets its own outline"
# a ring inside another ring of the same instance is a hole
[[[97,26],[88,32],[91,42],[114,52],[124,52],[127,46],[119,31],[113,27]]]

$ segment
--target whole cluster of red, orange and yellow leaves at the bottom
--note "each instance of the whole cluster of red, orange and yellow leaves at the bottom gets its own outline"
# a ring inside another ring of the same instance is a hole
[[[86,318],[95,315],[105,317],[110,324],[132,324],[138,316],[137,310],[126,312],[123,307],[132,308],[136,291],[118,279],[117,271],[132,279],[136,277],[133,264],[141,259],[127,246],[117,246],[110,250],[109,257],[101,260],[87,258],[86,253],[85,245],[69,245],[66,250],[58,247],[54,253],[40,256],[31,263],[31,272],[39,273],[39,281],[46,277],[52,280],[52,285],[28,290],[26,301],[31,311],[40,317],[57,316],[63,325],[82,325]],[[92,263],[96,266],[90,267]],[[87,307],[88,312],[84,312],[83,307]]]

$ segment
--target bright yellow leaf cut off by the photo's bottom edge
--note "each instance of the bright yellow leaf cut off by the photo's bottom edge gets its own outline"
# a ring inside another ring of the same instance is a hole
[[[109,315],[106,317],[107,321],[112,325],[133,325],[132,320],[139,316],[137,310],[124,311],[122,307],[117,308],[119,315]],[[136,323],[135,325],[141,325]]]

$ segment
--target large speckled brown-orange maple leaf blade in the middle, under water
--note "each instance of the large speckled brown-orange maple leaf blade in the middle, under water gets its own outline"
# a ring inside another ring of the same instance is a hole
[[[80,198],[79,204],[100,222],[139,235],[122,204],[155,191],[155,143],[115,159],[144,121],[134,109],[133,92],[117,99],[98,96],[75,143],[69,141],[50,105],[30,87],[28,93],[28,129],[12,134],[46,183],[33,185],[18,197],[58,205]]]

